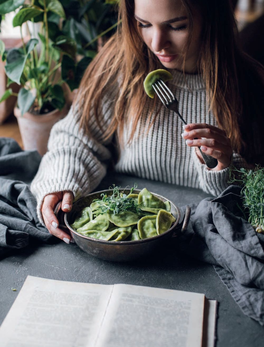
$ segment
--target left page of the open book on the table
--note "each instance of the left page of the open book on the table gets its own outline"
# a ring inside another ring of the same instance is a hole
[[[0,327],[0,346],[94,346],[112,290],[28,276]]]

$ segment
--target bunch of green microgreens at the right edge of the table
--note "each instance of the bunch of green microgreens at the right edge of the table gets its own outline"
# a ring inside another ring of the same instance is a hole
[[[231,178],[231,182],[240,182],[243,205],[249,212],[248,222],[257,232],[264,233],[264,168],[257,166],[255,170],[235,169],[240,179]]]

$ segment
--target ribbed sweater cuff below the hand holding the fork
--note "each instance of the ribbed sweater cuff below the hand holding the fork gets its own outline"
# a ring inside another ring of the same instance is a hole
[[[205,164],[201,163],[196,154],[195,148],[193,148],[192,156],[195,162],[195,167],[198,171],[199,188],[214,196],[220,195],[231,184],[228,182],[230,168],[252,168],[238,153],[233,153],[229,166],[219,171],[209,170]]]

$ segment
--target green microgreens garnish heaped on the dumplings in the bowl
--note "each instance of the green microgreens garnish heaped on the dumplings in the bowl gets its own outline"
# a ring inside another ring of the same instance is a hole
[[[137,183],[135,183],[134,187],[130,190],[130,194],[137,188],[137,186]],[[113,194],[111,196],[107,196],[103,193],[101,194],[101,200],[95,200],[99,204],[96,214],[104,214],[109,210],[113,211],[114,214],[124,211],[134,213],[139,213],[141,211],[138,202],[132,197],[127,197],[124,191],[119,192],[120,188],[121,187],[116,187],[113,184],[113,188],[109,187],[109,189],[113,189]]]

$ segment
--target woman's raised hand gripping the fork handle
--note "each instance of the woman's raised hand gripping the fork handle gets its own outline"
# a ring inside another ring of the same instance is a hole
[[[233,153],[231,140],[226,136],[226,132],[222,129],[214,127],[206,123],[191,123],[184,125],[184,133],[182,138],[186,140],[186,144],[190,147],[201,147],[201,150],[218,160],[218,164],[213,171],[223,170],[227,168],[231,161]],[[197,137],[197,140],[193,138]],[[198,148],[196,153],[203,162],[203,158]]]

